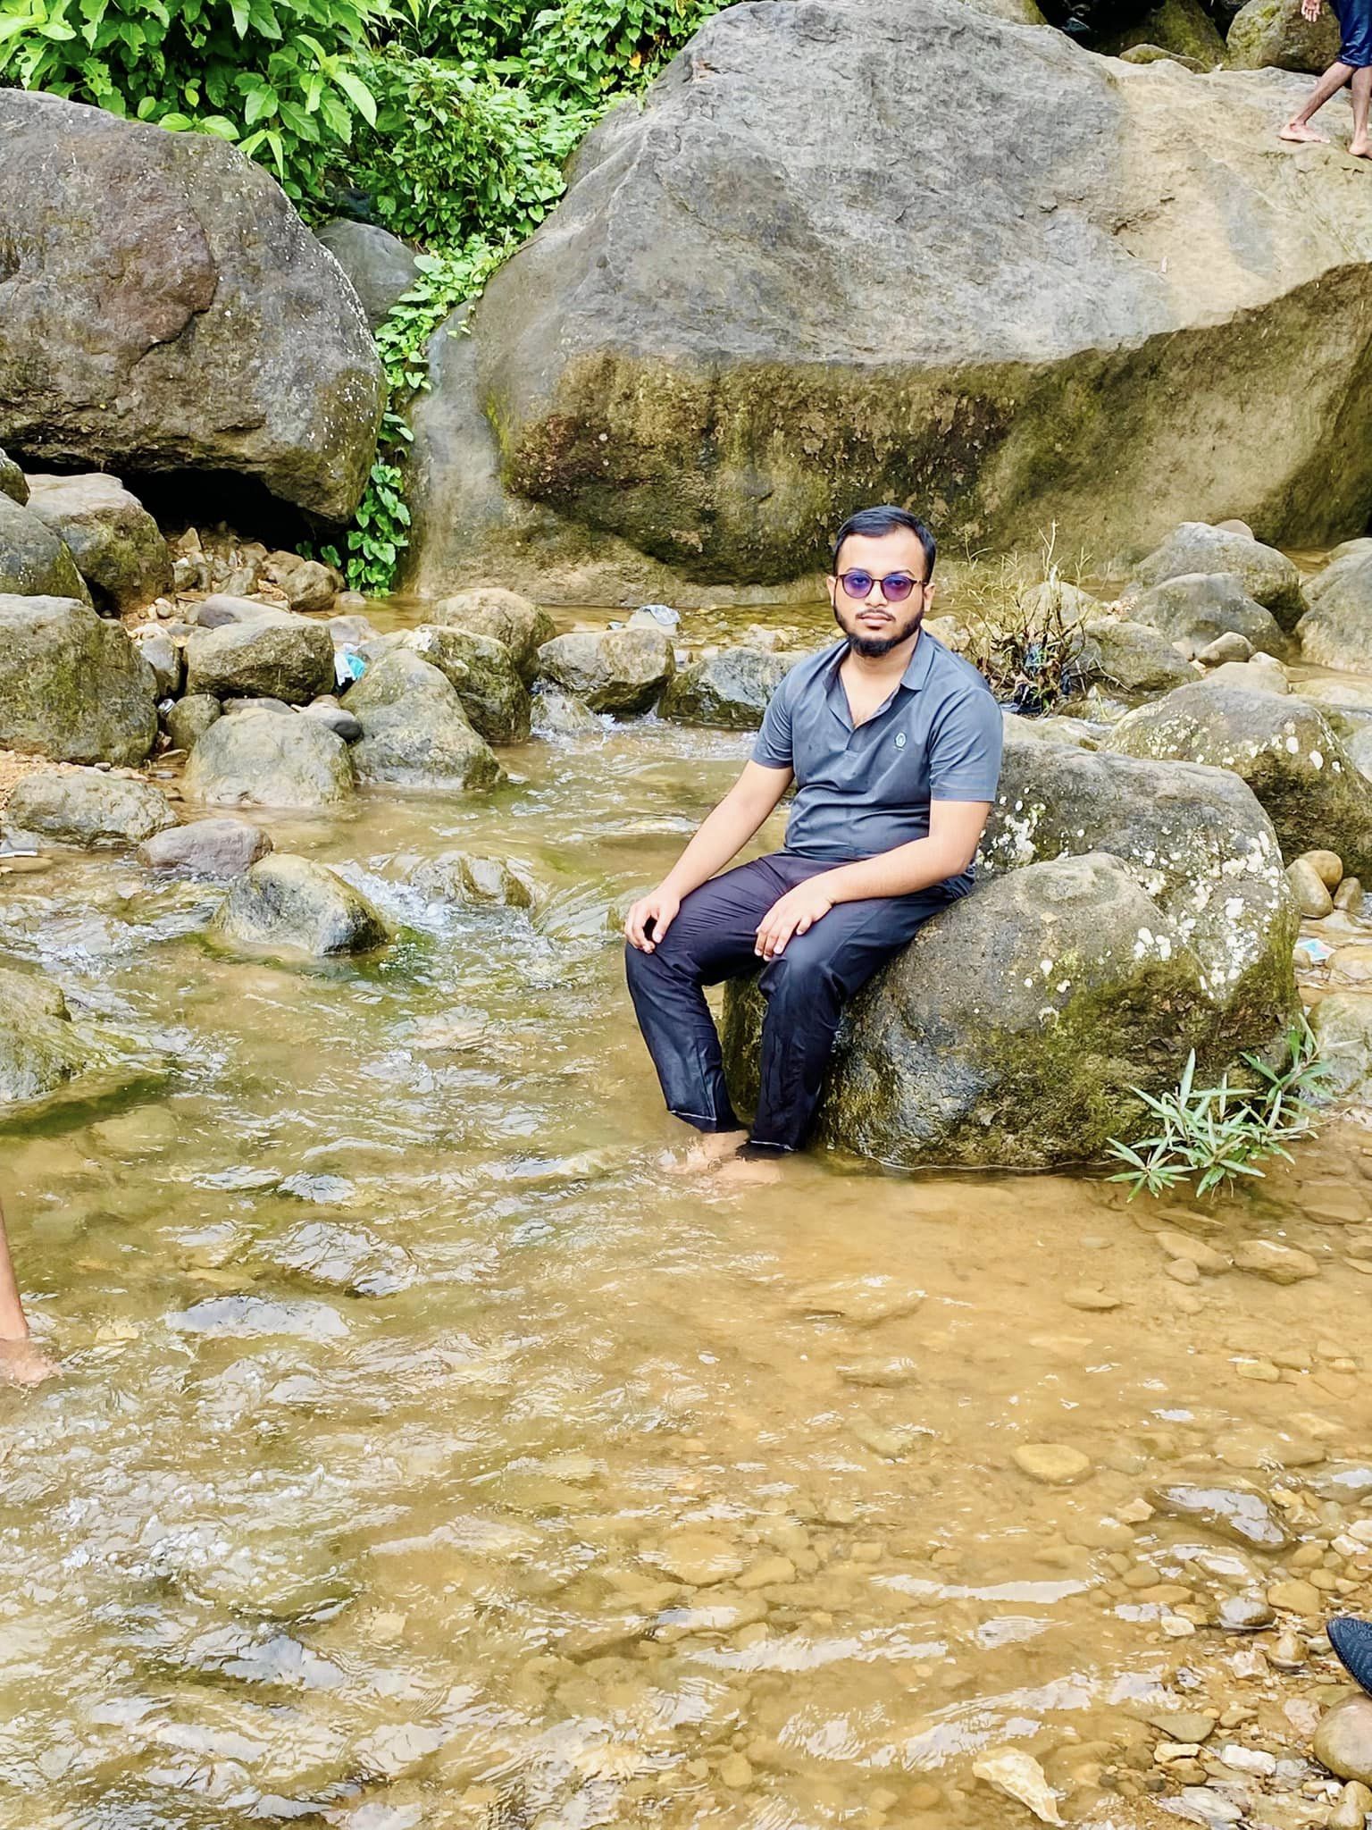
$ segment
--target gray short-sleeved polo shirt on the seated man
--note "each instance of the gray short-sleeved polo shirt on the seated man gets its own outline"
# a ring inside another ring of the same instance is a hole
[[[838,677],[847,650],[787,673],[752,752],[796,774],[787,851],[834,864],[927,838],[931,800],[993,802],[1001,776],[1001,706],[970,662],[922,630],[896,690],[854,728]]]

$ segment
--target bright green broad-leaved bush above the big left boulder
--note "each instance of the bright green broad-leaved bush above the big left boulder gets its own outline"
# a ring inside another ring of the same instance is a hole
[[[234,141],[298,201],[377,119],[384,0],[5,0],[0,82]]]

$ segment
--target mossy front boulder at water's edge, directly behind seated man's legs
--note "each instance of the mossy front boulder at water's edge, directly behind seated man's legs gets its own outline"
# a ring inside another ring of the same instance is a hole
[[[728,1001],[745,1109],[761,1005],[754,981]],[[854,999],[818,1138],[898,1168],[1090,1162],[1211,1019],[1200,961],[1125,864],[1032,864],[935,917]]]

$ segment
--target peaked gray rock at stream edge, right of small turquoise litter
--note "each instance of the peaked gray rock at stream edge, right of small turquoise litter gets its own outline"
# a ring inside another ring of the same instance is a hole
[[[501,778],[499,763],[472,730],[454,686],[408,648],[393,648],[370,666],[348,690],[344,710],[362,725],[362,737],[353,745],[362,781],[488,789]]]

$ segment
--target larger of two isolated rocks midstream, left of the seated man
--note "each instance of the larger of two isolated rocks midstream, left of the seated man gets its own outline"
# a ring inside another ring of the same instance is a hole
[[[337,871],[274,851],[234,878],[210,924],[234,946],[307,953],[371,953],[391,933],[384,915]]]

